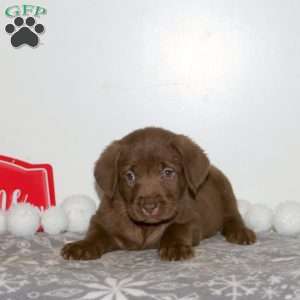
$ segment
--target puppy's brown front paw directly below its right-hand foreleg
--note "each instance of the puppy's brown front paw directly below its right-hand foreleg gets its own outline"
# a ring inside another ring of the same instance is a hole
[[[194,249],[181,244],[164,245],[159,249],[159,256],[161,260],[185,260],[194,256]]]

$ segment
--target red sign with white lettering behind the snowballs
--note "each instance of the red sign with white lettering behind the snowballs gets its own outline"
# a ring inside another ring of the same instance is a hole
[[[0,155],[0,209],[28,202],[41,210],[55,206],[52,167]]]

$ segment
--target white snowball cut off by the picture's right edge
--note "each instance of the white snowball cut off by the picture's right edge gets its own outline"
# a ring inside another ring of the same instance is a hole
[[[273,217],[275,230],[282,235],[300,233],[300,203],[285,202],[279,204]]]

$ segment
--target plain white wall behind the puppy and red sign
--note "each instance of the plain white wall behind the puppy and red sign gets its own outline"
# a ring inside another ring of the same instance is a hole
[[[95,197],[100,151],[156,125],[190,135],[236,194],[300,201],[300,2],[51,0],[14,49],[0,2],[0,153],[53,165],[58,201]]]

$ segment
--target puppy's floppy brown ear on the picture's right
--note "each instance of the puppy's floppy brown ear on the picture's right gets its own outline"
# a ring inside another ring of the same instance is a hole
[[[196,143],[184,135],[177,135],[171,141],[171,145],[182,159],[184,176],[189,188],[196,194],[208,174],[210,163],[206,154]]]

